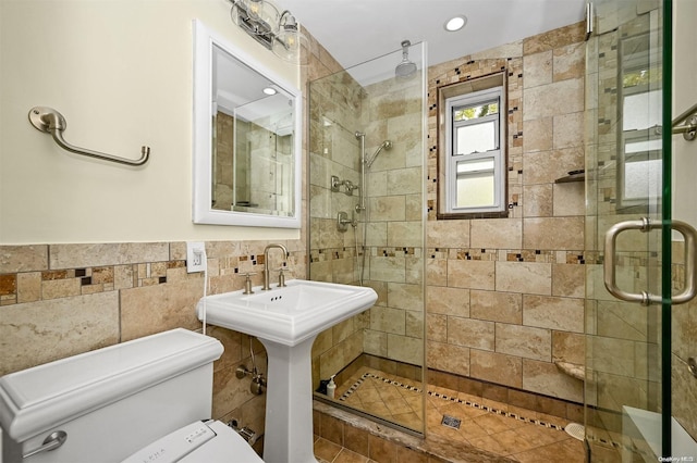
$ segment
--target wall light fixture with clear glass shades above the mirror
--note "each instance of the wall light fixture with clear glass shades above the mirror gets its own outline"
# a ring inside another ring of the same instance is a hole
[[[299,32],[295,16],[278,8],[268,0],[231,0],[232,22],[271,50],[280,59],[304,65],[307,38]]]

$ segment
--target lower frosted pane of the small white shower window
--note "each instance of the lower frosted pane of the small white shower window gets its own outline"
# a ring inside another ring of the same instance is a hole
[[[457,163],[455,208],[482,208],[494,203],[493,158]]]

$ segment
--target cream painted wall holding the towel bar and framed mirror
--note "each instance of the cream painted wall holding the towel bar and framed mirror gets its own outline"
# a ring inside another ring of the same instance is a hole
[[[298,230],[192,223],[192,21],[199,18],[299,85],[230,20],[227,0],[0,1],[0,245],[296,239]],[[52,107],[76,146],[27,121]]]

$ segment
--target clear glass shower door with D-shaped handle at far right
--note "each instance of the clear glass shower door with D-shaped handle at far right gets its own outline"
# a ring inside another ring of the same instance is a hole
[[[694,461],[695,322],[682,304],[694,229],[671,216],[671,2],[600,0],[591,12],[586,445],[594,462]]]

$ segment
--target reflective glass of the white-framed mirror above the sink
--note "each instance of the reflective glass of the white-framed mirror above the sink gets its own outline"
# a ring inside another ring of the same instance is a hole
[[[210,207],[292,216],[291,98],[218,46],[213,70]]]

